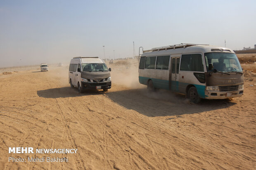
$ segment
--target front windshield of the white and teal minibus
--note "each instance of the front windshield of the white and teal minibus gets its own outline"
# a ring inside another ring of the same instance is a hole
[[[242,72],[238,58],[233,53],[205,53],[207,71],[209,63],[212,63],[213,69],[220,72]]]

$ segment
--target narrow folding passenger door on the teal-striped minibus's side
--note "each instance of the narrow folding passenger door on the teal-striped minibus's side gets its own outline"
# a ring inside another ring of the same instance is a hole
[[[180,57],[171,58],[171,90],[179,91]]]

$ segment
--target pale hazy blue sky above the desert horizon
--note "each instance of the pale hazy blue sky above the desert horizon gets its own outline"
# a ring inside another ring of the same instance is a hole
[[[254,48],[256,0],[0,0],[0,67],[224,40]]]

